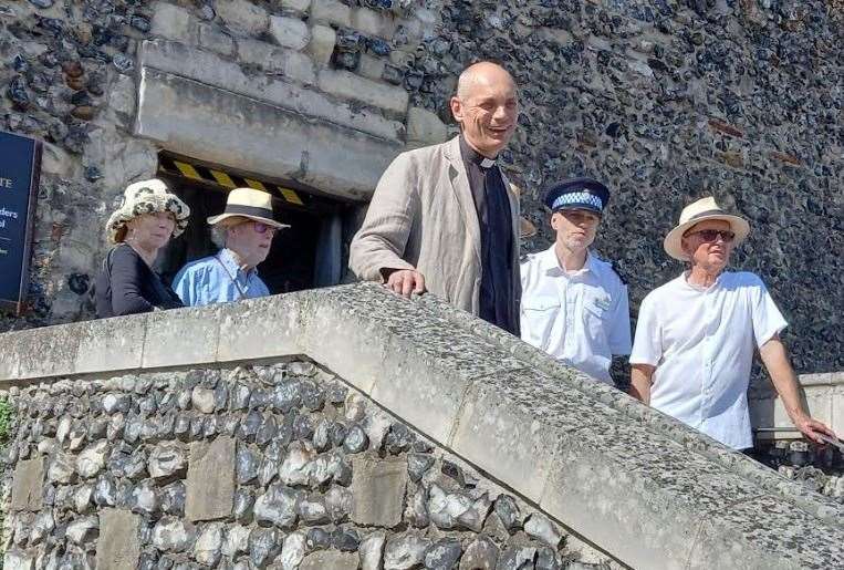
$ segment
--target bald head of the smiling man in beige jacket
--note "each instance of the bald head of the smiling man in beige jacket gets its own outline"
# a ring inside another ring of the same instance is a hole
[[[512,75],[489,61],[468,66],[457,81],[451,114],[470,146],[489,158],[496,157],[513,136],[519,116]]]

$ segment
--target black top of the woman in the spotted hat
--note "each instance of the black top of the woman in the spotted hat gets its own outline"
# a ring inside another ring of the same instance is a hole
[[[126,243],[114,248],[96,278],[96,315],[147,313],[185,307],[179,297]]]

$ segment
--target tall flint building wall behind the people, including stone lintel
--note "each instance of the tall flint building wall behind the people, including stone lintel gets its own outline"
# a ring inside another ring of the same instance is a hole
[[[158,148],[238,155],[228,166],[365,197],[393,153],[455,132],[457,74],[493,59],[521,85],[502,164],[540,228],[524,250],[550,241],[543,187],[606,180],[596,246],[618,261],[635,313],[680,271],[660,243],[681,205],[715,194],[751,220],[736,265],[770,286],[796,367],[844,370],[842,14],[838,0],[7,2],[0,128],[48,145],[32,311],[0,328],[91,314],[100,228],[125,184],[155,173]],[[254,121],[232,112],[247,100]],[[299,133],[296,117],[314,123],[306,144],[273,128]],[[283,146],[277,167],[267,144]],[[361,166],[325,176],[325,157]]]

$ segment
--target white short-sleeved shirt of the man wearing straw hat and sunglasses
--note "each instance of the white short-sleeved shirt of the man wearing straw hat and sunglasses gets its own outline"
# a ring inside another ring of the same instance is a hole
[[[656,366],[653,407],[743,449],[753,346],[786,325],[758,276],[726,271],[701,289],[684,273],[642,301],[631,363]]]

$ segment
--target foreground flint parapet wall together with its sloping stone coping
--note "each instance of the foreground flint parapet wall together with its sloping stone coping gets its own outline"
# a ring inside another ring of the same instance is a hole
[[[840,502],[429,296],[356,284],[0,343],[23,568],[117,563],[115,543],[160,568],[600,562],[575,537],[611,566],[844,564]]]

